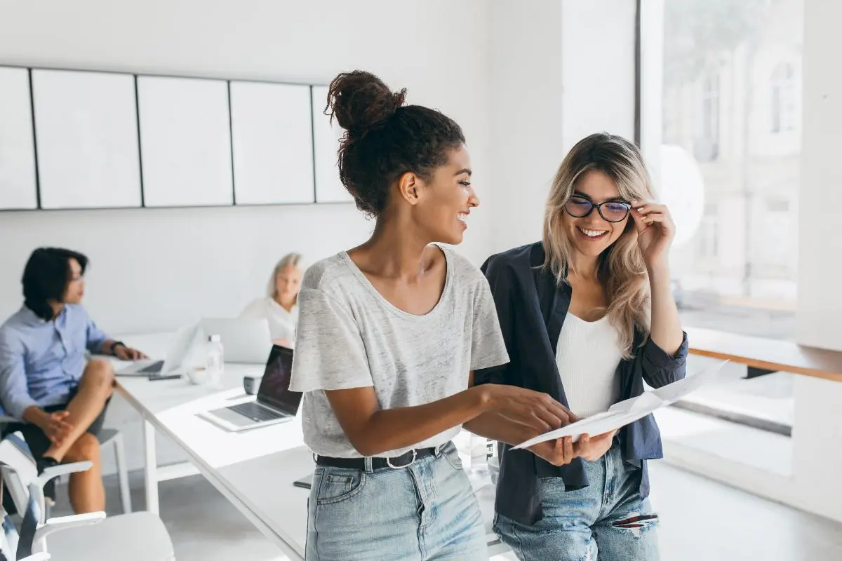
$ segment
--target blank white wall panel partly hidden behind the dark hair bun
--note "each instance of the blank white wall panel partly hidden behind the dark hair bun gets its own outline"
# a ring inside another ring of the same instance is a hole
[[[350,203],[354,200],[339,181],[337,152],[342,128],[324,114],[328,99],[327,86],[313,86],[313,145],[316,158],[316,202]]]

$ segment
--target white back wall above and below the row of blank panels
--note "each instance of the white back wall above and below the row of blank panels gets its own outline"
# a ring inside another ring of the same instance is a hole
[[[479,188],[491,177],[485,13],[482,0],[0,3],[0,64],[312,83],[364,68],[462,125]],[[472,214],[460,249],[475,261],[488,225]],[[236,314],[285,252],[326,257],[370,228],[349,204],[3,213],[0,317],[20,305],[35,246],[87,253],[88,309],[125,333]]]

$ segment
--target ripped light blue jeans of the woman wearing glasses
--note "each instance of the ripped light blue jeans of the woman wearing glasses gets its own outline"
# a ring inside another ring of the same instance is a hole
[[[532,526],[496,516],[494,530],[521,561],[657,561],[658,518],[640,496],[640,469],[623,461],[615,443],[585,462],[590,484],[564,490],[560,478],[541,479],[544,518]],[[498,490],[499,492],[499,490]]]

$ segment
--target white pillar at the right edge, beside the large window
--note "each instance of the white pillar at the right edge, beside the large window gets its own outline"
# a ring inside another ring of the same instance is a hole
[[[842,4],[804,3],[798,342],[842,351]],[[842,521],[842,383],[796,377],[795,479],[802,507]]]

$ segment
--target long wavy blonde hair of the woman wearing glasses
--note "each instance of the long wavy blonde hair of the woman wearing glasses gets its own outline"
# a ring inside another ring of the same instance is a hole
[[[558,283],[566,283],[568,274],[576,273],[570,258],[573,246],[562,225],[564,205],[579,179],[589,171],[603,172],[610,177],[626,201],[654,198],[646,164],[632,142],[607,133],[579,140],[558,168],[546,202],[544,266]],[[620,333],[626,357],[631,357],[635,330],[648,335],[652,309],[646,265],[637,246],[637,229],[631,216],[627,220],[621,236],[600,254],[597,277],[607,293],[608,320]]]

